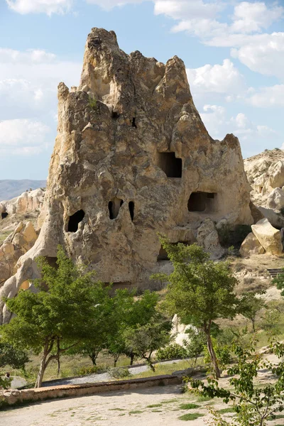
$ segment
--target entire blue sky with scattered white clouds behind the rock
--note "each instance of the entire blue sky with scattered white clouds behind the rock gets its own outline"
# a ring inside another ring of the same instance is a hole
[[[47,177],[57,85],[79,83],[94,26],[182,58],[213,138],[234,133],[245,158],[283,146],[283,0],[0,0],[0,180]]]

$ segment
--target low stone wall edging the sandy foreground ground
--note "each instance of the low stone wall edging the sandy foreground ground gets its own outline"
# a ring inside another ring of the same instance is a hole
[[[77,397],[109,391],[126,391],[137,388],[151,388],[181,383],[181,376],[165,375],[147,378],[133,378],[130,380],[84,383],[82,385],[50,386],[47,388],[23,389],[22,391],[9,389],[0,392],[0,408],[21,403],[33,403],[38,400],[53,398]]]

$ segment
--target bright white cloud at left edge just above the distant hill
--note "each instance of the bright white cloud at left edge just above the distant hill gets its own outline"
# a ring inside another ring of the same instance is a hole
[[[50,128],[40,121],[13,119],[0,121],[0,153],[31,155],[48,148]]]

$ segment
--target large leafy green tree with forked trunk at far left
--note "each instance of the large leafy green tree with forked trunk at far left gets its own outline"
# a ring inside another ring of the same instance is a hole
[[[4,342],[18,349],[41,353],[35,387],[40,387],[50,361],[89,338],[108,300],[109,288],[94,282],[94,273],[85,273],[58,247],[57,268],[38,258],[42,278],[33,283],[38,293],[21,290],[6,304],[16,314],[1,327]]]

